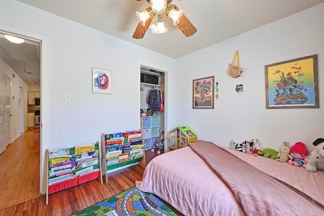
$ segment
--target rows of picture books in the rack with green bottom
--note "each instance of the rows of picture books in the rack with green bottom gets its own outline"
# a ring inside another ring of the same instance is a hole
[[[143,139],[140,130],[105,134],[107,166],[143,157]]]

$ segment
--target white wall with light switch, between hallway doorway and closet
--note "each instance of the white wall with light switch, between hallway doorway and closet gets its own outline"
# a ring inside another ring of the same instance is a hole
[[[174,59],[87,26],[20,2],[2,0],[0,29],[42,40],[43,193],[47,148],[72,147],[100,140],[101,133],[138,129],[138,62],[168,71],[168,91],[173,91]],[[92,67],[112,70],[112,94],[92,93]],[[71,94],[71,101],[64,101],[65,93]],[[174,95],[169,100],[173,101]]]

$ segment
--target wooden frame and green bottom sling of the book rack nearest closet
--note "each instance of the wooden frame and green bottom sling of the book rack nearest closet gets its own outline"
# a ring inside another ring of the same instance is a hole
[[[143,135],[143,134],[142,134]],[[143,142],[142,142],[143,143]],[[143,156],[142,157],[137,157],[134,159],[129,159],[123,162],[107,165],[107,160],[106,160],[106,137],[105,134],[101,134],[101,154],[103,155],[102,157],[102,167],[103,167],[103,175],[105,176],[105,182],[108,183],[108,174],[117,171],[119,169],[124,169],[126,167],[130,167],[133,165],[139,164],[141,167],[145,169],[146,167],[146,160],[145,160],[145,152],[143,150]]]

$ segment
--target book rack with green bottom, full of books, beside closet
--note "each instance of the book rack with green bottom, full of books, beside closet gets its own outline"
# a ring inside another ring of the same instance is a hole
[[[141,130],[101,134],[101,150],[104,155],[105,181],[108,183],[108,174],[129,166],[139,164],[145,168],[145,154]]]

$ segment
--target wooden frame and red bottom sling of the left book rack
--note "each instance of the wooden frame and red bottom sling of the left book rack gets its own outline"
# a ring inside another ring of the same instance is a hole
[[[70,150],[70,155],[74,155],[74,148],[69,148],[69,150]],[[95,150],[98,150],[99,163],[91,165],[91,166],[93,166],[93,169],[99,169],[99,170],[90,172],[88,174],[80,175],[77,177],[73,177],[70,179],[66,179],[62,182],[54,183],[52,185],[49,185],[49,161],[50,161],[50,159],[49,159],[49,150],[48,149],[46,150],[46,161],[47,161],[46,204],[48,204],[49,194],[53,194],[58,191],[62,191],[62,190],[65,190],[65,189],[68,189],[68,188],[71,188],[71,187],[74,187],[77,185],[81,185],[83,183],[90,182],[94,179],[98,179],[98,181],[101,184],[103,183],[103,181],[102,181],[102,167],[101,167],[101,159],[102,158],[101,158],[101,150],[100,150],[99,141],[97,141],[95,143]],[[88,168],[88,167],[90,167],[90,166],[72,170],[72,173],[74,174],[75,172],[80,171],[85,168]]]

